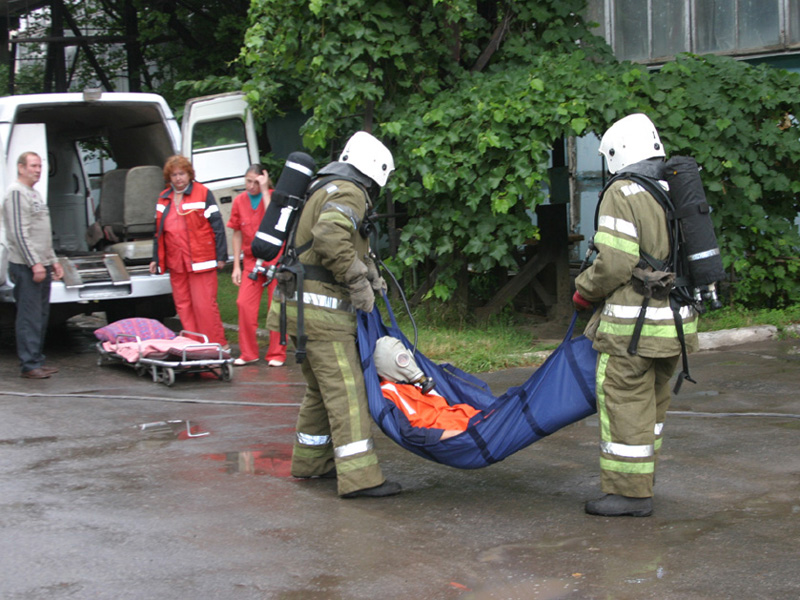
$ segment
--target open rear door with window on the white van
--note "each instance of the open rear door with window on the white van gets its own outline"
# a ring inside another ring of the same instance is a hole
[[[214,194],[227,223],[231,202],[244,191],[244,172],[260,160],[253,115],[244,94],[189,100],[181,135],[182,154],[192,161],[197,181]],[[231,253],[233,235],[230,231],[227,234]]]

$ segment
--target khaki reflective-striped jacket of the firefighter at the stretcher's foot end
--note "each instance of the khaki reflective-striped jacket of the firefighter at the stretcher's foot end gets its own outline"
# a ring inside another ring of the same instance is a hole
[[[640,252],[658,260],[669,254],[669,232],[664,209],[638,183],[621,179],[603,195],[594,237],[598,254],[592,265],[575,279],[588,301],[601,304],[587,326],[594,348],[607,354],[627,353],[642,310],[643,297],[633,289],[631,277]],[[688,351],[697,349],[697,314],[681,308]],[[680,354],[681,346],[669,300],[650,299],[638,354],[658,358]]]

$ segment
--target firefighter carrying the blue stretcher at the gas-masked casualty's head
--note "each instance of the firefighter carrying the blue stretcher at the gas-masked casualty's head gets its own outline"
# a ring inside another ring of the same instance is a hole
[[[344,498],[401,491],[386,481],[373,449],[372,420],[356,349],[356,310],[371,311],[386,283],[370,258],[365,216],[394,170],[391,152],[369,133],[347,142],[338,161],[320,169],[297,223],[295,248],[303,265],[302,298],[279,275],[267,327],[298,345],[298,301],[307,336],[302,362],[307,386],[292,451],[294,477],[336,477]],[[324,181],[321,181],[324,178]]]

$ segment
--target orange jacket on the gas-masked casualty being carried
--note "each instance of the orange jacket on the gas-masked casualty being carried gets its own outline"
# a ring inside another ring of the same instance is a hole
[[[409,383],[383,380],[381,391],[384,398],[403,411],[414,427],[465,431],[469,420],[481,412],[469,404],[451,406],[436,390],[423,394],[417,386]]]

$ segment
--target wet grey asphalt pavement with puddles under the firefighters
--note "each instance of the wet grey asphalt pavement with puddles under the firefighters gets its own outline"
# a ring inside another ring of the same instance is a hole
[[[0,336],[0,598],[800,597],[800,340],[693,355],[654,516],[606,519],[583,512],[596,417],[477,471],[376,428],[404,493],[341,500],[289,476],[298,367],[168,388],[98,366],[88,331],[51,339],[42,381]]]

